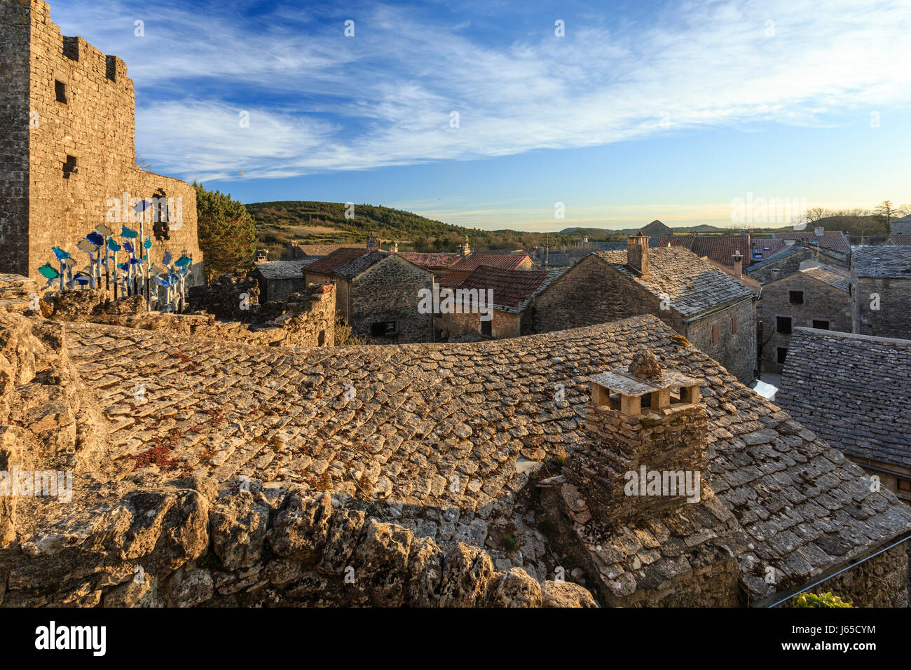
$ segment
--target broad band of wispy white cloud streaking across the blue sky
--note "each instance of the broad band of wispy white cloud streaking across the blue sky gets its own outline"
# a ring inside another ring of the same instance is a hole
[[[252,25],[239,3],[210,15],[173,3],[87,5],[60,22],[127,60],[140,152],[157,170],[208,180],[470,160],[760,120],[816,125],[844,108],[911,100],[906,0],[692,2],[648,25],[569,22],[562,38],[545,25],[505,46],[469,22],[388,5],[364,5],[352,38],[341,15],[287,7],[281,20]],[[133,35],[136,19],[145,37]]]

